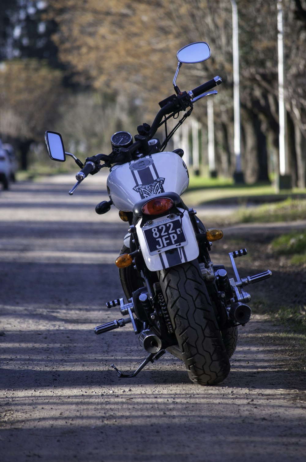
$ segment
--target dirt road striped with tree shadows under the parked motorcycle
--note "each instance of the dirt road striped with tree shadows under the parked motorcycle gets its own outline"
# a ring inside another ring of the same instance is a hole
[[[92,330],[120,317],[105,303],[122,296],[126,225],[94,213],[105,183],[89,180],[72,197],[73,176],[0,193],[1,461],[304,462],[305,373],[260,316],[219,386],[190,383],[169,353],[134,379],[111,369],[145,353],[129,325]]]

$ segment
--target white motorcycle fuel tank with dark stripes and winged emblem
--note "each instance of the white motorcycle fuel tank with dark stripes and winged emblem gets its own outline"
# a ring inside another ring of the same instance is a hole
[[[112,167],[107,192],[119,210],[132,212],[136,202],[151,195],[175,192],[188,187],[187,167],[175,152],[157,152],[123,165]]]

